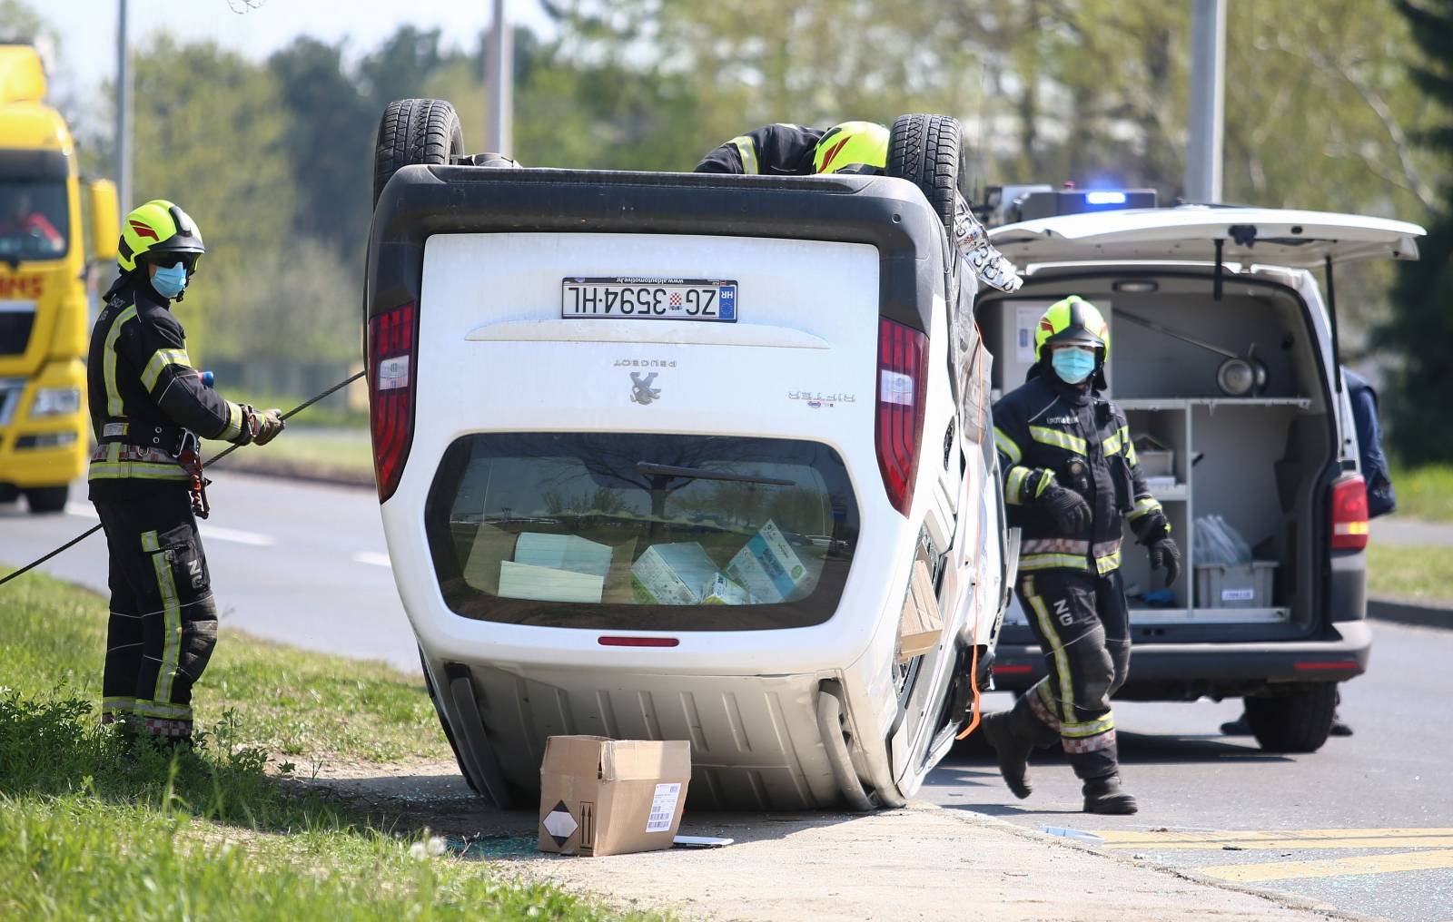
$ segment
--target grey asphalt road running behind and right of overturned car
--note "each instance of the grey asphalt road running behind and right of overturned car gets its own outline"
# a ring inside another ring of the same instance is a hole
[[[418,669],[372,491],[215,473],[202,534],[225,626]],[[73,498],[65,515],[0,505],[0,562],[28,562],[94,524],[84,485]],[[105,589],[105,540],[90,537],[46,569]],[[1027,801],[972,748],[953,754],[921,797],[1035,829],[1094,832],[1107,849],[1372,916],[1453,919],[1449,664],[1453,632],[1379,624],[1370,672],[1344,687],[1341,713],[1356,733],[1314,755],[1267,755],[1250,738],[1222,736],[1239,703],[1119,704],[1136,816],[1080,813],[1078,783],[1053,752],[1036,756]]]

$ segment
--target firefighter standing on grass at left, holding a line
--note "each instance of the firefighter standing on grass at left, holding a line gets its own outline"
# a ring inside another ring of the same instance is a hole
[[[196,438],[264,444],[283,425],[276,409],[224,401],[192,367],[170,302],[182,301],[205,251],[171,202],[126,215],[119,276],[87,360],[96,437],[87,481],[110,558],[102,722],[171,745],[192,736],[192,685],[216,642],[195,518]]]

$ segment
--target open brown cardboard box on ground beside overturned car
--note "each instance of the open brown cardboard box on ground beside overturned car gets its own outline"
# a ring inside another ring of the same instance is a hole
[[[690,780],[686,741],[551,736],[541,762],[539,849],[599,857],[670,848]]]

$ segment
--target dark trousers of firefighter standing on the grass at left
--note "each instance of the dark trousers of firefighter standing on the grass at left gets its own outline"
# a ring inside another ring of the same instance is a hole
[[[96,501],[110,553],[102,722],[192,735],[192,684],[216,643],[216,603],[186,489]]]

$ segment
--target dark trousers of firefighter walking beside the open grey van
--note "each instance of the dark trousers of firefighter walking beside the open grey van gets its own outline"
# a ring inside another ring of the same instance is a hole
[[[1117,774],[1110,695],[1125,684],[1130,666],[1120,572],[1033,571],[1017,588],[1048,675],[1016,701],[1016,723],[1042,726],[1039,742],[1058,735],[1080,778]]]

